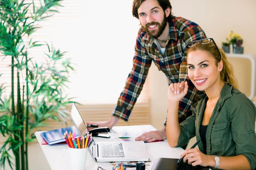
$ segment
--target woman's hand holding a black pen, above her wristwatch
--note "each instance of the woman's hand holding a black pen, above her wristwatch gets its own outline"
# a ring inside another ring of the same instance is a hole
[[[183,161],[188,161],[188,164],[192,164],[192,166],[201,165],[203,167],[207,167],[211,164],[215,164],[214,156],[205,155],[197,148],[187,149],[180,156],[181,158],[185,156]]]

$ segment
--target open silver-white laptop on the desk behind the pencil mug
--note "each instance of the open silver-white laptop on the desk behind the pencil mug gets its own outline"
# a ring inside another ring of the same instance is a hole
[[[81,136],[89,131],[75,103],[72,105],[70,116]],[[143,141],[94,142],[92,138],[88,145],[88,151],[96,162],[149,161]]]

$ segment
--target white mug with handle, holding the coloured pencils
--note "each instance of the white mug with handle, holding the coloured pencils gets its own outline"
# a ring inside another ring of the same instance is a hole
[[[65,152],[68,153],[69,159],[66,159],[67,156],[65,156],[66,158],[64,157]],[[61,156],[68,164],[70,164],[71,170],[85,170],[87,152],[87,148],[76,149],[68,147],[61,151]]]

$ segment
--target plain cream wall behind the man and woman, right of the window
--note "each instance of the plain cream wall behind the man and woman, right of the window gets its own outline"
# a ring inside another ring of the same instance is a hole
[[[207,37],[214,38],[218,46],[226,40],[230,31],[241,35],[244,54],[256,54],[256,0],[170,0],[174,16],[192,20],[203,28]],[[230,59],[231,60],[231,59]],[[236,63],[237,62],[237,63]],[[232,60],[235,74],[239,74],[239,86],[247,92],[244,74],[250,71],[248,62]],[[149,73],[151,93],[151,124],[160,129],[167,114],[167,81],[163,72],[152,65]],[[249,80],[250,81],[250,80]]]

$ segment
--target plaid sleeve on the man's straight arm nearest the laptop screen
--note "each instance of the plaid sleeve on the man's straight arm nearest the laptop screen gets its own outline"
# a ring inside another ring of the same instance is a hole
[[[126,79],[125,87],[120,94],[117,105],[112,112],[112,116],[128,121],[131,111],[143,88],[143,84],[151,66],[151,58],[148,56],[141,41],[143,34],[139,32],[135,45],[135,55],[133,68]]]

